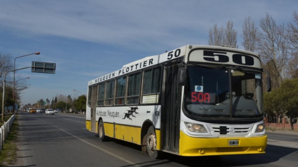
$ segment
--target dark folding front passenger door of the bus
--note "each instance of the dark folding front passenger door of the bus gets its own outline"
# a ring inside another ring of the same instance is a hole
[[[165,66],[162,94],[162,149],[179,152],[181,86],[177,85],[179,64]]]

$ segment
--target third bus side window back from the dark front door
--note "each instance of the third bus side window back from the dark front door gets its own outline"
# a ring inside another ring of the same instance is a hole
[[[126,88],[126,76],[117,78],[116,80],[116,95],[115,95],[115,105],[124,104]]]

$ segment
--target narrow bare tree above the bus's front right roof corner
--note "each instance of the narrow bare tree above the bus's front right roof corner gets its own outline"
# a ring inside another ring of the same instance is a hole
[[[250,16],[244,19],[242,33],[242,46],[245,50],[254,52],[256,48],[257,28],[254,26],[254,21],[252,21]]]

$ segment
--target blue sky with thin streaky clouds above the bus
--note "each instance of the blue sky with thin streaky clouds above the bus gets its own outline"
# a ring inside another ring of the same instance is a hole
[[[273,0],[2,0],[0,52],[16,59],[16,67],[32,61],[56,63],[55,74],[19,70],[30,77],[22,103],[56,95],[87,93],[88,81],[119,70],[124,64],[188,44],[207,45],[209,29],[234,22],[241,45],[244,19],[259,25],[266,12],[288,23],[298,1]],[[13,73],[11,73],[13,74]]]

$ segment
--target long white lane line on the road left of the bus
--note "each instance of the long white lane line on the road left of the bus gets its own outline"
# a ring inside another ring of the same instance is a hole
[[[39,118],[38,118],[38,119],[39,119]],[[50,123],[48,123],[48,122],[46,122],[46,121],[44,121],[44,120],[42,120],[42,119],[39,119],[39,120],[41,120],[41,121],[43,121],[43,122],[45,122],[45,123],[47,123],[47,124],[49,124],[49,125],[51,125],[51,126],[57,128],[57,129],[59,129],[59,130],[65,132],[65,133],[69,134],[70,136],[73,136],[74,138],[79,139],[80,141],[83,141],[84,143],[86,143],[86,144],[88,144],[88,145],[90,145],[90,146],[92,146],[92,147],[94,147],[94,148],[99,149],[100,151],[103,151],[103,152],[107,153],[108,155],[111,155],[111,156],[113,156],[113,157],[115,157],[115,158],[118,158],[119,160],[122,160],[122,161],[124,161],[124,162],[126,162],[126,163],[128,163],[128,164],[130,164],[130,165],[132,165],[132,166],[140,167],[140,166],[137,165],[136,163],[133,163],[133,162],[131,162],[131,161],[129,161],[129,160],[126,160],[125,158],[122,158],[122,157],[120,157],[120,156],[118,156],[118,155],[116,155],[116,154],[114,154],[114,153],[112,153],[112,152],[109,152],[108,150],[102,149],[102,148],[100,148],[99,146],[96,146],[96,145],[94,145],[94,144],[92,144],[92,143],[89,143],[88,141],[86,141],[86,140],[84,140],[84,139],[81,139],[81,138],[79,138],[79,137],[77,137],[77,136],[75,136],[75,135],[73,135],[73,134],[71,134],[71,133],[69,133],[69,132],[67,132],[67,131],[65,131],[65,130],[63,130],[63,129],[61,129],[61,128],[59,128],[59,127],[57,127],[57,126],[55,126],[55,125],[52,125],[52,124],[50,124]]]

